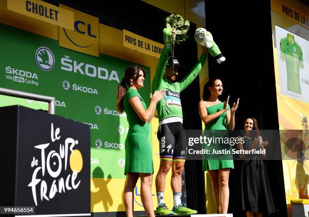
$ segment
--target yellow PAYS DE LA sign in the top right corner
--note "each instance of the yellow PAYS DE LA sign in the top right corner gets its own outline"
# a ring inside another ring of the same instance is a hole
[[[309,16],[302,14],[300,10],[291,7],[289,4],[281,0],[273,0],[271,2],[271,9],[287,19],[309,29]]]

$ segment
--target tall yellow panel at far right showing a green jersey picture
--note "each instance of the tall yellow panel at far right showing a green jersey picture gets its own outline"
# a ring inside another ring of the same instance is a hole
[[[271,7],[279,126],[295,130],[293,136],[281,134],[281,150],[286,154],[282,161],[283,170],[287,171],[284,173],[286,203],[291,214],[291,199],[309,199],[309,164],[305,153],[309,134],[299,131],[304,129],[302,123],[309,117],[309,20],[305,15],[309,14],[309,8],[298,1],[287,0],[273,0]],[[289,147],[292,151],[287,153],[283,144],[291,137],[303,142],[294,142],[293,147]]]

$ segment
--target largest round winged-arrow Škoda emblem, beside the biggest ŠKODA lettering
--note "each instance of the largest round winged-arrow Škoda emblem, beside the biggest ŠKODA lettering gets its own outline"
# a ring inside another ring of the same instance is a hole
[[[52,50],[39,47],[35,52],[35,60],[39,68],[44,71],[52,70],[55,66],[55,57]]]

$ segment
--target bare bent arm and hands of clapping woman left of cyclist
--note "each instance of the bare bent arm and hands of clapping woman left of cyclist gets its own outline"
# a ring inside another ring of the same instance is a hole
[[[156,105],[160,99],[163,98],[163,93],[160,91],[155,91],[153,95],[150,93],[150,104],[148,108],[145,110],[141,100],[138,96],[133,96],[132,98],[129,99],[129,102],[131,106],[133,107],[134,111],[138,115],[141,121],[143,122],[148,122],[150,123],[153,115],[155,114],[156,111]]]

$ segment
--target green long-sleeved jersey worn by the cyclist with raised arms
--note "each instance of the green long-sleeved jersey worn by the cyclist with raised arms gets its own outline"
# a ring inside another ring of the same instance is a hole
[[[182,118],[180,92],[183,91],[196,78],[207,58],[207,56],[202,54],[192,70],[181,81],[172,83],[167,79],[163,79],[165,66],[168,61],[169,50],[172,49],[171,35],[171,29],[164,29],[163,37],[165,45],[160,55],[155,77],[153,77],[152,80],[152,92],[155,90],[165,90],[165,97],[157,103],[159,122],[170,117]]]

